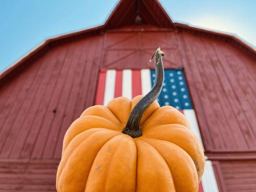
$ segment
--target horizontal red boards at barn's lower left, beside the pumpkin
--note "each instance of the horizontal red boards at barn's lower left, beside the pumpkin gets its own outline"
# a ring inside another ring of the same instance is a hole
[[[59,160],[0,160],[0,192],[56,192]]]

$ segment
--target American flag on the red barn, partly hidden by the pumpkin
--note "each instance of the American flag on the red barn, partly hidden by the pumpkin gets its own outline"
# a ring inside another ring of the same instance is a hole
[[[170,105],[179,109],[186,116],[191,130],[204,146],[183,70],[165,70],[164,76],[163,88],[158,96],[159,105]],[[137,95],[146,95],[154,85],[155,77],[155,70],[150,69],[101,70],[98,77],[95,105],[106,106],[110,100],[119,96],[132,99]],[[219,192],[210,160],[206,160],[199,192]]]

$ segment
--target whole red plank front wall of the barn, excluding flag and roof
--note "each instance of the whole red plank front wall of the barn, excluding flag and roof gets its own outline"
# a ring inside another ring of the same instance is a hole
[[[166,69],[184,69],[206,153],[225,159],[250,152],[255,159],[255,60],[222,40],[183,30],[107,31],[50,48],[0,88],[0,174],[11,171],[8,182],[17,182],[20,165],[23,183],[11,186],[4,181],[0,189],[54,190],[64,133],[94,104],[99,70],[153,69],[148,60],[158,47],[165,52]],[[51,164],[49,172],[34,169],[38,160],[40,168]],[[218,183],[224,183],[222,191],[225,186],[232,191],[229,186],[236,180],[226,177],[229,164],[215,161],[223,168],[216,172]],[[45,183],[38,180],[41,177]],[[35,185],[28,186],[32,181]]]

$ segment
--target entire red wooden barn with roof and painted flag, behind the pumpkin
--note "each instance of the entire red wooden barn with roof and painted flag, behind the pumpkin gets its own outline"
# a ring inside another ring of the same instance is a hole
[[[159,102],[179,108],[202,138],[199,191],[255,192],[256,50],[173,23],[158,0],[121,0],[105,24],[50,38],[0,74],[0,191],[56,191],[69,125],[94,104],[146,94],[158,47],[170,85]]]

